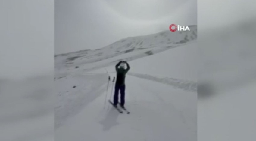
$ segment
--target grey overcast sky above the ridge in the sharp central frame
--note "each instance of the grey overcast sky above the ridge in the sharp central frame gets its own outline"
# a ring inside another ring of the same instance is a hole
[[[55,54],[197,24],[197,0],[55,0]]]

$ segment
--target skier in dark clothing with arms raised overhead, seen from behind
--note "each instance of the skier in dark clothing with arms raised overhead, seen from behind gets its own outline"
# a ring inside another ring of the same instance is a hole
[[[125,69],[125,64],[127,65],[127,68]],[[119,67],[119,68],[118,68]],[[117,81],[115,85],[115,92],[114,92],[114,106],[117,106],[118,103],[118,93],[120,90],[120,105],[121,107],[124,106],[125,103],[125,75],[130,70],[130,66],[126,61],[120,61],[116,65],[116,71],[117,71]]]

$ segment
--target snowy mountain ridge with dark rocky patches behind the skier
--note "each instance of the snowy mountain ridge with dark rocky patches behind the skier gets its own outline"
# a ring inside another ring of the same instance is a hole
[[[195,41],[197,26],[189,26],[189,29],[190,31],[168,30],[151,35],[128,37],[100,49],[58,54],[55,55],[55,69],[60,71],[62,68],[66,70],[67,67],[83,66],[83,71],[90,71],[116,64],[120,59],[131,61],[153,55]]]

